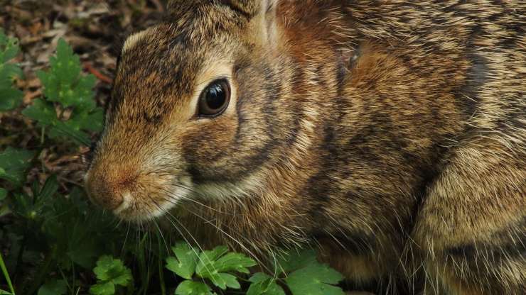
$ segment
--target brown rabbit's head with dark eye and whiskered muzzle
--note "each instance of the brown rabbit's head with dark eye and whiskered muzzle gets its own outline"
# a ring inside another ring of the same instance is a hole
[[[85,184],[127,220],[262,186],[291,136],[289,60],[272,1],[172,1],[122,48]]]

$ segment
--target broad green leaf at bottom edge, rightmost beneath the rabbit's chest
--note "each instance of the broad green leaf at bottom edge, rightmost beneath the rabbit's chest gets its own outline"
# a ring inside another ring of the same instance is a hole
[[[289,274],[285,282],[294,295],[345,295],[338,284],[343,276],[327,265],[307,265]]]

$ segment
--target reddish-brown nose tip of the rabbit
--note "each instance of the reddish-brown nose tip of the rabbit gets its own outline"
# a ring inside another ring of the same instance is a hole
[[[135,179],[115,179],[104,173],[92,171],[87,175],[86,191],[93,203],[109,210],[116,210],[124,203],[124,194],[129,194],[129,184]]]

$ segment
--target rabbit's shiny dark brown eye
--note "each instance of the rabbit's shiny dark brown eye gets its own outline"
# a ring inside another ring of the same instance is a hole
[[[208,84],[199,96],[199,116],[213,117],[225,111],[230,101],[230,86],[227,80],[218,79]]]

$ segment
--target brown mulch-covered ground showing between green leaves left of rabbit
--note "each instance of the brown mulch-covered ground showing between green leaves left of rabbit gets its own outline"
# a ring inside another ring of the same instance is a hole
[[[166,0],[0,0],[0,27],[20,41],[18,62],[25,74],[17,81],[23,90],[23,105],[0,113],[0,150],[8,145],[31,149],[38,146],[39,130],[21,116],[33,99],[41,96],[39,69],[48,67],[60,38],[80,55],[85,72],[95,74],[96,99],[100,105],[109,97],[117,55],[131,33],[161,21]],[[64,150],[60,145],[43,150],[45,170],[58,174],[63,189],[78,184],[82,173],[79,155],[87,151]],[[31,178],[45,179],[33,169]]]

